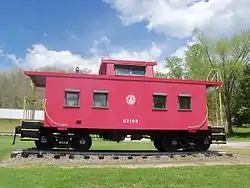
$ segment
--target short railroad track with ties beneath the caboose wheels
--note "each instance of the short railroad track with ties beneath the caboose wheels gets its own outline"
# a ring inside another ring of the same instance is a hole
[[[34,148],[29,149],[14,149],[12,150],[10,157],[16,158],[28,158],[28,157],[35,157],[35,158],[44,158],[50,156],[50,158],[60,159],[60,158],[68,158],[74,159],[75,157],[80,157],[82,159],[120,159],[120,158],[127,158],[127,159],[147,159],[147,158],[186,158],[186,157],[194,157],[194,158],[206,158],[206,157],[233,157],[232,153],[225,152],[225,151],[206,151],[206,152],[189,152],[189,151],[180,151],[180,152],[173,152],[173,153],[166,153],[166,152],[158,152],[158,151],[133,151],[133,150],[90,150],[88,152],[78,152],[72,150],[37,150]]]

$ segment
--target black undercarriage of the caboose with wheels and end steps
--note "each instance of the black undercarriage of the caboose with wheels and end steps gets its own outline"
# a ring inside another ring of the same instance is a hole
[[[178,130],[96,130],[96,129],[64,129],[44,127],[41,122],[23,121],[17,126],[16,134],[21,140],[33,140],[38,149],[67,148],[88,151],[92,146],[92,135],[106,141],[123,141],[128,135],[131,140],[148,138],[160,152],[176,152],[179,150],[207,151],[211,144],[226,143],[223,127],[209,127],[205,131]],[[13,144],[15,139],[13,141]]]

